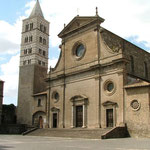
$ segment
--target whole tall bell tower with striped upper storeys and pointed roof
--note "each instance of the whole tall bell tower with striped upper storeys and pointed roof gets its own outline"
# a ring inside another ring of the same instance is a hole
[[[39,1],[23,20],[19,67],[18,123],[32,125],[33,94],[46,90],[49,22],[44,19]]]

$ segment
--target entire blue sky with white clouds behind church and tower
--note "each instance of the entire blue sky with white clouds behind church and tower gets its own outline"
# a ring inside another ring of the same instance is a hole
[[[149,0],[39,1],[45,19],[50,22],[51,66],[55,66],[59,56],[61,40],[57,35],[63,29],[64,23],[69,23],[77,12],[81,16],[95,15],[96,6],[99,8],[99,15],[105,19],[102,24],[104,28],[150,51]],[[30,15],[35,0],[0,2],[0,79],[5,81],[4,103],[17,105],[22,19]]]

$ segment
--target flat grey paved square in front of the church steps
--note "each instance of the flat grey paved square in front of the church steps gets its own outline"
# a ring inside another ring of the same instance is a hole
[[[69,139],[0,135],[0,150],[150,150],[150,139]]]

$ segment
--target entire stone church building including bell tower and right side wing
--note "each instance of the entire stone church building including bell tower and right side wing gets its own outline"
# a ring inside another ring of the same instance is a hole
[[[150,54],[103,28],[104,19],[76,16],[58,34],[60,57],[48,70],[49,22],[39,2],[23,21],[18,123],[41,128],[150,131]]]

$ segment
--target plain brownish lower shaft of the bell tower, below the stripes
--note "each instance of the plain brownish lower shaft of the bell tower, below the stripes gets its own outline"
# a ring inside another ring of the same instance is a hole
[[[20,67],[17,118],[18,123],[32,125],[33,94],[45,91],[47,69],[38,65]],[[24,107],[26,106],[26,107]]]

